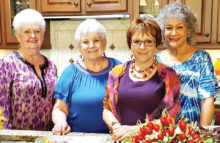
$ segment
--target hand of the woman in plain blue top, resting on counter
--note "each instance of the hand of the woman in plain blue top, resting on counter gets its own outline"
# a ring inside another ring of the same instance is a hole
[[[60,122],[54,125],[52,131],[55,135],[66,135],[70,132],[70,126],[67,122]]]

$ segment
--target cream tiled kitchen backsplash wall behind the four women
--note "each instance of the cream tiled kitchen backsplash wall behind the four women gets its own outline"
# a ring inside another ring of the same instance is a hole
[[[41,50],[41,53],[52,59],[58,67],[58,75],[70,64],[72,58],[79,58],[79,51],[74,40],[74,33],[81,20],[59,20],[50,22],[52,49]],[[126,43],[126,31],[130,25],[129,19],[99,20],[107,30],[106,55],[114,57],[122,62],[130,59],[130,53]],[[73,45],[73,49],[69,48]],[[111,49],[114,45],[114,49]],[[0,58],[13,50],[0,50]],[[207,50],[215,63],[220,58],[220,50]]]

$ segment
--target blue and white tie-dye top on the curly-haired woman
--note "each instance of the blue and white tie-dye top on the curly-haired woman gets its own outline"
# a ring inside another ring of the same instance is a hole
[[[163,51],[162,51],[163,52]],[[157,54],[157,59],[162,62]],[[209,54],[204,50],[197,50],[187,61],[177,66],[171,66],[180,79],[181,109],[177,119],[183,114],[189,122],[200,123],[200,101],[207,97],[219,96],[218,84],[213,64]]]

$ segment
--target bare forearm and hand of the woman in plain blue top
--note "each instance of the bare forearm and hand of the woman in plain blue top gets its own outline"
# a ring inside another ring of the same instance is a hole
[[[70,126],[66,119],[69,114],[68,105],[61,99],[56,99],[52,111],[52,120],[54,123],[53,133],[57,135],[65,135],[70,132]]]

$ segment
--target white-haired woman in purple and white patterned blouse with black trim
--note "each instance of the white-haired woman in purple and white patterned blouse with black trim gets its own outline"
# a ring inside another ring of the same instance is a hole
[[[4,128],[50,130],[56,66],[40,54],[45,21],[26,9],[13,21],[19,49],[0,60],[0,109]]]

